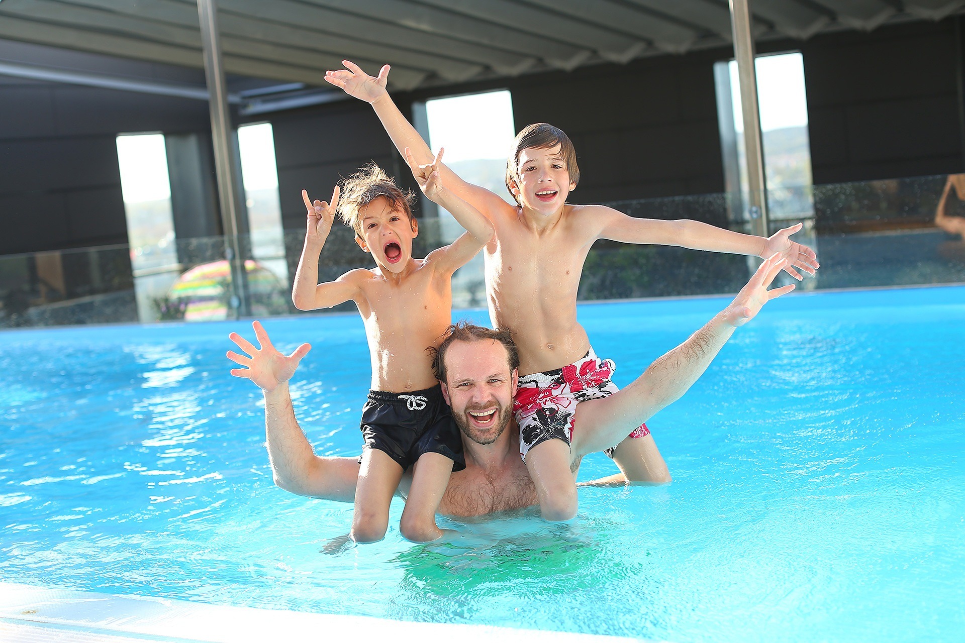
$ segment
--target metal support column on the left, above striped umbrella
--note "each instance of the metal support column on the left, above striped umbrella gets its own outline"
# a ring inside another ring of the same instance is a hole
[[[218,201],[225,234],[225,257],[231,264],[231,307],[235,318],[250,315],[248,280],[244,256],[238,234],[242,226],[238,220],[237,173],[235,171],[231,113],[228,110],[228,85],[221,61],[221,41],[218,38],[218,14],[214,0],[198,0],[201,20],[201,41],[205,53],[208,108],[211,114],[211,140],[214,144],[214,169],[218,177]]]

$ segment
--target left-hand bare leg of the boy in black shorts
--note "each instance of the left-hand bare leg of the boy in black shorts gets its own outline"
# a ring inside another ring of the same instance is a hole
[[[382,540],[389,526],[389,505],[399,488],[402,468],[385,451],[366,448],[355,489],[351,538],[356,543]]]

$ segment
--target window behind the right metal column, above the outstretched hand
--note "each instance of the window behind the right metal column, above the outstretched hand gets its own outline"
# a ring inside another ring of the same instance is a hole
[[[813,217],[804,60],[800,52],[758,56],[755,70],[769,216],[775,220]],[[737,63],[717,63],[714,75],[727,191],[732,209],[744,213],[748,203],[747,157]],[[733,218],[743,220],[745,215]]]

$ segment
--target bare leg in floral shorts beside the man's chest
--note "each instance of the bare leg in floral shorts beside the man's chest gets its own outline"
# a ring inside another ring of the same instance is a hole
[[[553,438],[526,452],[526,469],[537,488],[543,520],[568,521],[576,516],[576,479],[569,469],[569,444]]]

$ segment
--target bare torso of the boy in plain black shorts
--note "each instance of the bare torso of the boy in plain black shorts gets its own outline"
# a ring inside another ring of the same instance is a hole
[[[400,275],[378,268],[353,270],[354,301],[365,322],[372,357],[372,389],[403,393],[436,385],[432,357],[452,323],[450,280],[426,259],[409,259]]]

